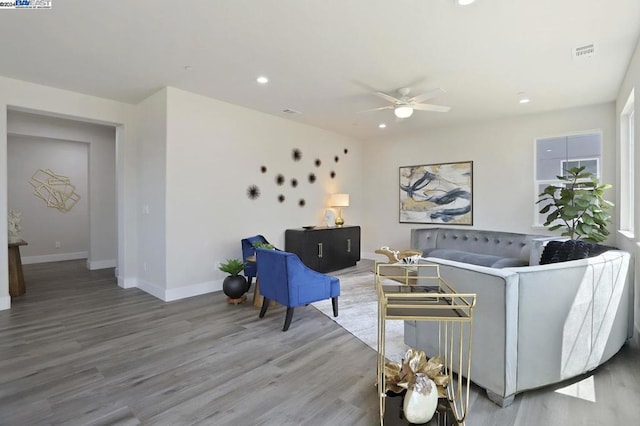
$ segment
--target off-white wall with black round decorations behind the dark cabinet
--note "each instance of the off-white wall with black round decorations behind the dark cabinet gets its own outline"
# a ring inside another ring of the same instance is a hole
[[[167,93],[165,298],[219,289],[225,274],[217,265],[241,256],[241,238],[262,234],[284,248],[287,228],[321,225],[331,193],[350,194],[343,216],[361,224],[360,143],[175,88]],[[296,148],[300,161],[292,158]],[[255,200],[247,196],[251,185],[260,189]]]

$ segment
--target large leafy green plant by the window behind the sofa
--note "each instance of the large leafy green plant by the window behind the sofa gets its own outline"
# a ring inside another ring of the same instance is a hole
[[[562,186],[549,185],[538,195],[536,204],[543,204],[541,214],[547,214],[544,226],[550,231],[562,229],[561,235],[572,240],[601,243],[607,239],[607,225],[611,215],[607,210],[613,203],[603,198],[609,184],[600,184],[593,173],[584,167],[567,170],[566,176],[558,176]]]

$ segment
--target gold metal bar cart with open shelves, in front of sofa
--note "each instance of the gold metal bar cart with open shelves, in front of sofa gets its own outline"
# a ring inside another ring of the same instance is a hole
[[[399,267],[410,269],[412,276],[402,271],[398,274]],[[438,265],[377,263],[375,268],[378,291],[377,380],[380,424],[384,422],[387,398],[384,375],[385,325],[390,320],[437,322],[439,353],[427,355],[442,359],[443,374],[449,378],[445,391],[449,417],[453,419],[444,422],[464,424],[469,407],[471,335],[476,295],[457,293],[440,277]],[[440,420],[432,420],[434,421],[436,423],[433,424],[442,424]]]

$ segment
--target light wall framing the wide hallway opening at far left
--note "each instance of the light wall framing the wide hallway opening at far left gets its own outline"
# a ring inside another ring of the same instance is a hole
[[[19,110],[116,127],[118,285],[135,285],[136,132],[132,105],[0,76],[0,258],[7,257],[7,111]],[[0,310],[11,307],[8,268],[0,262]]]

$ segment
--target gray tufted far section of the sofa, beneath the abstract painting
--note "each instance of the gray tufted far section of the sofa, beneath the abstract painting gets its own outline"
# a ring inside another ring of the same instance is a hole
[[[411,230],[411,248],[423,257],[454,260],[490,268],[537,265],[544,242],[556,237],[475,229]]]

